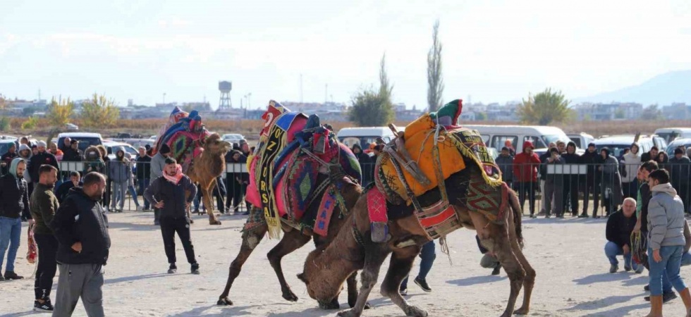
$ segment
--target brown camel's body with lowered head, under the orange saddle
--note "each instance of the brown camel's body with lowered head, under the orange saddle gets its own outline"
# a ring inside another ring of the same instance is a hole
[[[469,211],[463,203],[465,194],[459,194],[467,192],[467,185],[463,185],[463,182],[467,184],[469,178],[463,174],[481,172],[470,162],[466,166],[464,170],[451,175],[444,181],[449,194],[448,199],[463,227],[477,231],[483,246],[494,252],[508,274],[510,294],[506,310],[501,316],[508,317],[514,313],[514,305],[521,286],[525,287],[523,304],[515,313],[527,314],[530,310],[530,295],[534,285],[535,271],[521,251],[522,215],[518,197],[505,184],[502,185],[505,187],[503,190],[508,191],[508,201],[504,204],[506,216],[501,223],[489,220],[483,213]],[[408,304],[398,292],[398,287],[403,278],[408,275],[415,257],[420,253],[422,244],[429,241],[426,232],[420,226],[417,217],[410,214],[389,220],[388,241],[372,242],[367,211],[369,194],[370,192],[362,194],[348,218],[345,219],[345,223],[352,223],[352,225],[346,225],[338,232],[331,244],[318,248],[307,256],[304,271],[298,274],[298,278],[305,282],[307,293],[312,299],[316,299],[319,303],[328,303],[338,298],[343,281],[362,269],[362,286],[355,306],[338,313],[338,316],[342,317],[358,317],[362,314],[369,292],[377,282],[381,264],[386,256],[393,252],[389,271],[381,285],[381,294],[389,297],[391,302],[405,312],[406,316],[427,316],[426,311]],[[420,197],[420,201],[424,201],[424,195]],[[396,213],[396,209],[403,207],[405,204],[389,207],[389,213]]]

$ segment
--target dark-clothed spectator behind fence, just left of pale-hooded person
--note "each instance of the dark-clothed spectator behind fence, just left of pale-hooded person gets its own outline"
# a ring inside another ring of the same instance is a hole
[[[619,208],[620,201],[622,201],[621,192],[621,177],[619,175],[619,163],[616,157],[610,154],[608,148],[604,147],[600,150],[600,156],[604,162],[598,167],[602,175],[601,192],[603,199],[603,206],[605,214],[609,217],[610,213]]]

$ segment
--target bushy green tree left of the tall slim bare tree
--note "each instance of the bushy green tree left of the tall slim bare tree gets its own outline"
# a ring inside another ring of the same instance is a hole
[[[381,91],[381,89],[380,89]],[[360,127],[387,125],[393,121],[393,105],[386,95],[364,89],[353,97],[348,118]]]

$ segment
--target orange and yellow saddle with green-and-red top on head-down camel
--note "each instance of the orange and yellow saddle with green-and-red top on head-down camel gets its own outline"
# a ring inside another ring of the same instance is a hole
[[[446,192],[446,183],[462,185],[467,209],[501,223],[508,187],[479,132],[457,125],[462,101],[454,100],[436,113],[426,113],[396,134],[377,159],[374,186],[367,189],[372,240],[386,240],[389,207],[415,213],[430,240],[460,227]],[[405,204],[406,208],[400,206]],[[407,216],[407,215],[406,215]]]

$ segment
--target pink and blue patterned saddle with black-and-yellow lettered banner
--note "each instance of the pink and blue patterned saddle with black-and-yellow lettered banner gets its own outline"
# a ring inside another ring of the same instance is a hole
[[[332,180],[362,182],[360,164],[316,115],[290,111],[272,100],[262,119],[266,124],[259,144],[247,159],[246,197],[262,213],[248,219],[245,230],[265,220],[270,238],[280,237],[281,222],[326,236],[332,214],[347,212],[337,187],[341,182]],[[317,213],[309,213],[308,207],[317,203]]]

